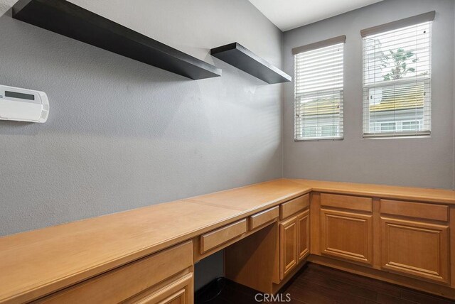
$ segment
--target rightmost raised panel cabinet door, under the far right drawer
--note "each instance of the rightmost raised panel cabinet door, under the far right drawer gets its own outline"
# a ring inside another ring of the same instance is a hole
[[[381,217],[384,269],[449,283],[449,227]]]

